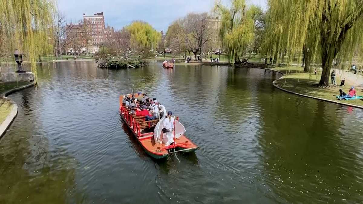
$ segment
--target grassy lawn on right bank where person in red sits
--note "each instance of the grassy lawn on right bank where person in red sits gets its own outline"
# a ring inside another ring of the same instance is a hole
[[[277,68],[276,70],[280,69],[284,72],[284,68]],[[293,69],[293,68],[291,68]],[[298,69],[298,68],[297,68]],[[285,68],[286,71],[286,68]],[[320,70],[319,70],[320,71]],[[332,86],[329,88],[320,88],[314,87],[314,84],[317,84],[320,81],[321,75],[318,73],[317,75],[311,73],[292,73],[286,75],[284,78],[279,79],[276,81],[276,85],[290,91],[294,91],[296,93],[310,95],[319,98],[325,98],[332,101],[336,101],[336,95],[339,95],[339,89],[342,89],[345,93],[348,93],[348,90],[352,86],[352,84],[346,81],[345,87],[342,86]],[[337,84],[340,84],[340,78],[337,76]],[[357,95],[363,95],[363,93],[359,93],[357,90]],[[360,99],[355,100],[342,100],[343,103],[354,104],[358,106],[363,106],[363,101]]]

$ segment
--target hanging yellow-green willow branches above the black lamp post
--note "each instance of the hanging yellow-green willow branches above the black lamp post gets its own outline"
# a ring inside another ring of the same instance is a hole
[[[0,0],[0,60],[13,61],[19,49],[36,75],[36,61],[52,53],[52,0]]]

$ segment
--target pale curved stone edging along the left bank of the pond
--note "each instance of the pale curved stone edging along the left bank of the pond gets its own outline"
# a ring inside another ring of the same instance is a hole
[[[5,134],[5,132],[8,130],[8,128],[13,123],[14,119],[16,118],[16,115],[18,114],[18,105],[12,99],[10,99],[6,96],[15,91],[19,91],[21,89],[25,89],[27,87],[34,86],[34,84],[35,84],[35,82],[30,83],[25,86],[17,87],[15,89],[11,89],[8,92],[0,95],[0,97],[3,97],[5,100],[9,101],[13,105],[12,110],[10,111],[9,115],[5,118],[5,121],[0,124],[0,138]]]

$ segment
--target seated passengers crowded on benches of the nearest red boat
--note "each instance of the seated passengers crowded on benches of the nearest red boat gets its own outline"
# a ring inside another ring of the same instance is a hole
[[[136,116],[145,117],[145,121],[152,121],[162,118],[164,115],[164,109],[159,101],[156,98],[149,98],[147,94],[138,93],[138,97],[135,98],[135,95],[132,94],[131,98],[129,95],[125,95],[122,103],[125,104],[126,107],[131,109],[131,114],[136,114]]]

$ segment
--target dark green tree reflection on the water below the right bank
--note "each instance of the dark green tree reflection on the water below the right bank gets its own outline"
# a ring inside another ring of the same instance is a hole
[[[339,132],[346,116],[337,114],[335,105],[285,93],[270,95],[261,105],[263,167],[258,179],[287,202],[362,199],[355,191],[363,187],[357,179],[359,150],[352,145],[357,138]]]

